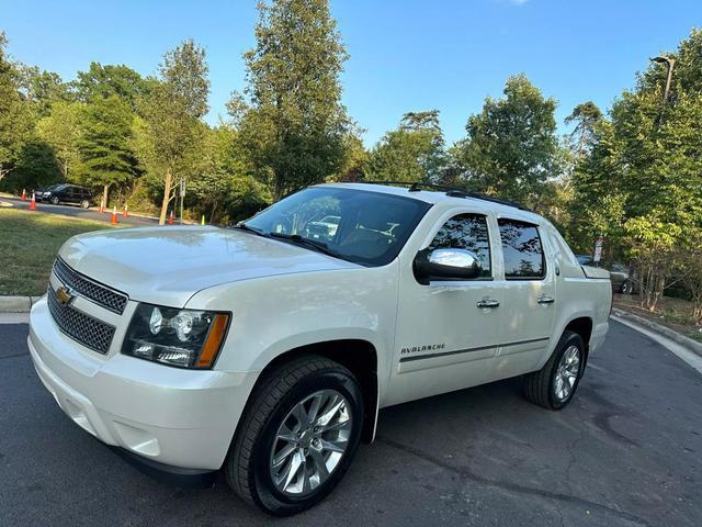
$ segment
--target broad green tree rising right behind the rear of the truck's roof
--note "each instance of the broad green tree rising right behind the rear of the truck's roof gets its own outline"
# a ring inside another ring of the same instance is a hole
[[[556,101],[524,75],[510,77],[502,99],[487,98],[468,119],[467,137],[454,154],[472,190],[532,204],[558,175]]]

